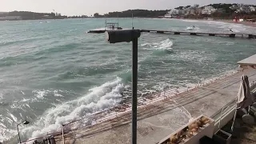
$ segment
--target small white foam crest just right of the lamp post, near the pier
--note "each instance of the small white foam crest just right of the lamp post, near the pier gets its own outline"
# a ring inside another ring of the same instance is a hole
[[[144,43],[141,46],[143,46],[144,49],[171,50],[173,45],[174,43],[170,40],[170,38],[167,38],[162,42]]]

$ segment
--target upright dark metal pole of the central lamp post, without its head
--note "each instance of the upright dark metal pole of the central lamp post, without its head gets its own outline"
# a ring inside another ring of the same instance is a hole
[[[133,39],[132,50],[132,143],[137,143],[137,83],[138,83],[138,38]]]

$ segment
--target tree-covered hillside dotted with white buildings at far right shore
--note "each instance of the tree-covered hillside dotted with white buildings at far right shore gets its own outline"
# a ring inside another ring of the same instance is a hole
[[[250,19],[256,18],[256,6],[246,4],[215,3],[207,6],[178,6],[168,12],[170,18],[214,18]]]

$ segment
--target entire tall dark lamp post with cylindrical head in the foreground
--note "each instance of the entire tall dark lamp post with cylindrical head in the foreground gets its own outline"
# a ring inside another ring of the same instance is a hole
[[[106,40],[110,43],[133,42],[132,48],[132,143],[137,143],[137,89],[138,89],[138,38],[140,30],[106,31]]]

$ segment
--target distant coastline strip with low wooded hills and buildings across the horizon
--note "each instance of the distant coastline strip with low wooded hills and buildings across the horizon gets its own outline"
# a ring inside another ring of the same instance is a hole
[[[218,3],[207,6],[178,6],[170,10],[124,10],[107,14],[66,16],[55,11],[36,13],[30,11],[0,12],[0,21],[41,20],[66,18],[178,18],[178,19],[236,19],[240,22],[256,22],[256,6],[238,3]]]

